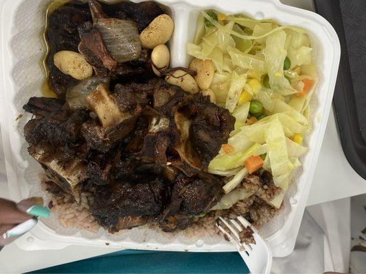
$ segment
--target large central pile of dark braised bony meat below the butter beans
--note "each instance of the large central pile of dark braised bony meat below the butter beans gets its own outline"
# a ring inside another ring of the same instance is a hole
[[[32,98],[25,110],[36,118],[25,133],[56,184],[76,195],[83,184],[101,225],[115,231],[150,216],[167,231],[184,229],[220,200],[222,179],[205,170],[233,128],[225,110],[161,79],[117,84],[113,93],[99,84],[86,105]],[[56,145],[57,158],[49,152]]]

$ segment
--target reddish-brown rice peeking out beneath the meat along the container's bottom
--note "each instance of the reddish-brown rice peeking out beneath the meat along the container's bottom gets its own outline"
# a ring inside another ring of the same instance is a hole
[[[51,212],[57,214],[58,222],[65,229],[80,229],[92,233],[97,233],[100,230],[100,225],[95,221],[93,215],[89,210],[87,193],[82,192],[80,203],[77,203],[71,195],[65,192],[59,195],[57,191],[58,186],[50,184],[50,182],[43,182],[43,189],[47,190],[52,201],[50,204]],[[57,193],[57,195],[55,195]],[[188,237],[214,237],[217,234],[222,235],[222,232],[216,227],[216,221],[219,216],[225,216],[230,219],[235,219],[237,216],[244,216],[255,225],[260,227],[268,222],[275,214],[279,212],[278,209],[272,208],[262,199],[255,195],[238,201],[229,210],[214,210],[208,212],[205,216],[198,218],[194,224],[187,227],[183,234]],[[156,229],[161,232],[157,223],[148,225],[151,229]],[[125,231],[115,233],[115,235],[123,234]],[[173,237],[176,233],[161,232],[165,237]],[[223,235],[222,235],[223,236]]]

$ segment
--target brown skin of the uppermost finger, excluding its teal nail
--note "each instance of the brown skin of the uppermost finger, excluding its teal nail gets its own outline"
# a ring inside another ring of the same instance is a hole
[[[16,208],[16,203],[0,199],[0,224],[15,225],[32,218],[31,215]]]

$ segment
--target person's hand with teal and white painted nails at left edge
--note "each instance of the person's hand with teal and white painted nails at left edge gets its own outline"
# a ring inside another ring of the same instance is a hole
[[[31,198],[19,203],[0,199],[0,247],[8,245],[10,242],[24,234],[9,235],[7,232],[20,223],[37,217],[48,217],[49,209],[42,206],[43,199]]]

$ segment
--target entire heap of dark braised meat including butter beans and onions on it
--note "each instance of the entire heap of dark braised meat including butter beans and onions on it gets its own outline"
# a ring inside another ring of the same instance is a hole
[[[57,99],[32,97],[23,107],[33,114],[25,140],[47,191],[57,203],[78,203],[111,233],[152,223],[185,229],[224,195],[225,178],[207,168],[235,119],[199,92],[196,72],[169,69],[174,21],[165,12],[153,1],[57,8],[46,62]],[[155,23],[168,30],[149,45]],[[194,88],[181,83],[187,76]],[[277,195],[271,175],[253,176],[263,199]]]

